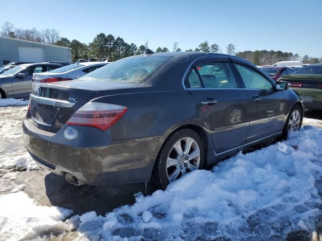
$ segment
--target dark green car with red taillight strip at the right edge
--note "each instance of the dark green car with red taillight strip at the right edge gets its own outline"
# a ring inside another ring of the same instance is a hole
[[[305,108],[322,110],[322,64],[307,65],[279,80],[291,83],[291,88],[302,96]]]

